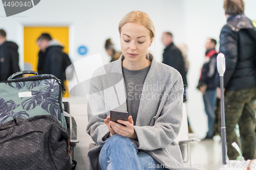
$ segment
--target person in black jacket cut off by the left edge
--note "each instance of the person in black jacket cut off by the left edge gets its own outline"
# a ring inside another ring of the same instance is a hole
[[[5,30],[0,30],[0,81],[7,80],[20,71],[18,65],[18,45],[6,40]]]

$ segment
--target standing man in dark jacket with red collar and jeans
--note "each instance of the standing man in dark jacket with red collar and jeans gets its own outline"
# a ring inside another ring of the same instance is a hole
[[[203,93],[205,113],[208,116],[208,132],[204,139],[212,139],[214,136],[214,116],[215,104],[217,99],[216,93],[216,74],[217,74],[217,51],[215,46],[217,41],[208,38],[205,43],[205,63],[202,68],[201,77],[197,88]]]

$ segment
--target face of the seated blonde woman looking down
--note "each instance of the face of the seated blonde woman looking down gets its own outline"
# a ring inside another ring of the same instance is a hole
[[[125,59],[130,62],[143,61],[153,38],[150,30],[140,23],[125,23],[120,33],[121,51]]]

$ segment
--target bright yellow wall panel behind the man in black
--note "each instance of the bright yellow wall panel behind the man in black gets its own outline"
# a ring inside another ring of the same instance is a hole
[[[52,39],[57,39],[63,45],[63,52],[69,54],[69,28],[68,27],[24,27],[24,63],[30,63],[32,70],[37,71],[39,47],[37,38],[42,33],[48,33]],[[66,85],[64,97],[68,97]]]

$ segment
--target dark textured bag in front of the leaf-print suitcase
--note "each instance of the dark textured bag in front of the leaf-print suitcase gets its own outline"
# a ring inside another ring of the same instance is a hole
[[[52,115],[0,125],[0,169],[71,169],[67,130]]]

